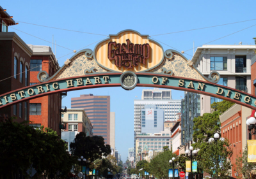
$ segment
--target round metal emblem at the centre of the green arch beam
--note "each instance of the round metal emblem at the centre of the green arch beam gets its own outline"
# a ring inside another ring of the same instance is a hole
[[[138,83],[137,75],[131,71],[126,71],[120,76],[120,83],[123,89],[132,90]]]

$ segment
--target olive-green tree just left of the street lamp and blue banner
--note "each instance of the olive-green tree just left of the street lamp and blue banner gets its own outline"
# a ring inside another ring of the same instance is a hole
[[[164,152],[156,155],[152,160],[150,160],[148,172],[154,174],[156,178],[168,178],[168,171],[172,168],[169,160],[172,159],[172,157],[177,157],[172,153],[172,150],[165,150]],[[177,167],[176,160],[174,163],[174,167]]]

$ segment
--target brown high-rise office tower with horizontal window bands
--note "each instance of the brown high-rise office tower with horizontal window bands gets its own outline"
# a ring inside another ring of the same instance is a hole
[[[110,143],[110,96],[80,95],[71,98],[71,108],[83,108],[93,124],[93,135]]]

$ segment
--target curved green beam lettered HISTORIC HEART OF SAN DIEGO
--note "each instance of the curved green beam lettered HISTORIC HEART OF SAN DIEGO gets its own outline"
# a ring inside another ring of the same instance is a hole
[[[92,75],[63,78],[23,87],[2,94],[0,96],[0,109],[37,97],[48,96],[50,94],[65,91],[100,87],[121,87],[121,75],[122,73],[93,73]],[[232,101],[256,110],[256,96],[216,83],[204,82],[191,78],[180,78],[160,73],[136,73],[136,75],[138,77],[137,87],[158,87],[195,92]]]

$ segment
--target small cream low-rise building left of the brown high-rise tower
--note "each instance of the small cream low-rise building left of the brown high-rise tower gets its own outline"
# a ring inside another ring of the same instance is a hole
[[[85,132],[86,136],[93,136],[93,126],[83,109],[67,109],[67,113],[61,115],[61,120],[66,124],[66,129],[61,131],[61,139],[68,143],[74,142],[76,134]]]

